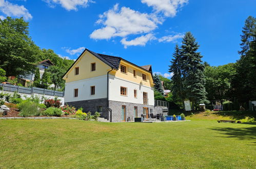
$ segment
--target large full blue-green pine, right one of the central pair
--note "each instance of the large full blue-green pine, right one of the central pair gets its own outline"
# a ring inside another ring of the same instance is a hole
[[[192,102],[192,109],[199,103],[206,103],[204,65],[202,55],[196,52],[198,43],[190,32],[187,32],[181,46],[181,73],[186,98]]]

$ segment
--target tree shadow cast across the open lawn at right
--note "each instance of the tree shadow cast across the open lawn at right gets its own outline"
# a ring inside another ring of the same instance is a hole
[[[221,132],[221,134],[224,134],[226,135],[225,137],[229,138],[253,140],[253,143],[256,145],[256,126],[251,126],[249,128],[211,128],[211,130]]]

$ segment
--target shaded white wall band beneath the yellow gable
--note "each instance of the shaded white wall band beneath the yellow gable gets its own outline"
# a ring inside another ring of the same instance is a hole
[[[95,86],[95,95],[91,95],[91,86]],[[78,89],[78,97],[74,97]],[[66,83],[65,102],[107,98],[107,75]]]

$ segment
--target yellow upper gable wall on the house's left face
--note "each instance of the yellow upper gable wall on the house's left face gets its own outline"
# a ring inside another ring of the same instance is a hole
[[[91,63],[95,62],[96,70],[91,72]],[[79,67],[79,74],[75,75],[75,68]],[[66,82],[77,81],[102,75],[107,75],[111,68],[103,61],[92,55],[90,52],[85,53],[76,61],[69,72],[63,77]]]

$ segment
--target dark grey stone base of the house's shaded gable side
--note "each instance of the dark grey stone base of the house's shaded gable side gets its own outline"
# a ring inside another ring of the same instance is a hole
[[[90,111],[92,114],[94,114],[97,111],[97,106],[102,106],[101,117],[104,117],[109,120],[109,112],[107,110],[107,98],[72,101],[65,102],[65,104],[72,105],[76,109],[82,107],[84,109],[84,112]]]

